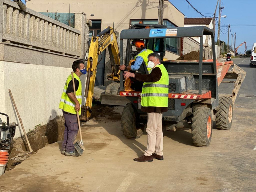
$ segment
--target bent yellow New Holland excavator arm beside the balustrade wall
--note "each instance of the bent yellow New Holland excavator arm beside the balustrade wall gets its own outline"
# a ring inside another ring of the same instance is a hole
[[[97,73],[98,56],[108,48],[110,53],[110,61],[112,74],[108,77],[112,80],[120,79],[120,71],[117,66],[120,65],[120,54],[117,44],[117,36],[113,28],[108,27],[91,40],[88,61],[87,61],[87,79],[85,86],[85,104],[82,106],[81,121],[88,121],[92,108],[92,96],[94,91],[95,78]]]

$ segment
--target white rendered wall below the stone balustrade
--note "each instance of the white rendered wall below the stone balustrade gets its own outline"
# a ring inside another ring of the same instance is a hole
[[[0,112],[7,113],[10,122],[19,124],[15,138],[21,133],[23,135],[23,132],[8,89],[11,89],[24,128],[28,132],[39,123],[44,125],[56,115],[62,115],[58,108],[59,101],[71,71],[71,68],[65,67],[0,61]],[[84,84],[86,75],[81,77]],[[7,121],[5,118],[2,120]]]

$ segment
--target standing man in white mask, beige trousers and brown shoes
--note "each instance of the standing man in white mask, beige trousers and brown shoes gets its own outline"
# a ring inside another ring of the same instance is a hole
[[[148,55],[148,67],[152,69],[148,75],[124,71],[124,78],[131,77],[144,82],[141,93],[141,110],[148,114],[146,128],[148,142],[144,155],[134,159],[139,162],[153,161],[153,158],[164,160],[162,113],[168,111],[169,76],[164,65],[160,63],[160,55],[157,53]]]

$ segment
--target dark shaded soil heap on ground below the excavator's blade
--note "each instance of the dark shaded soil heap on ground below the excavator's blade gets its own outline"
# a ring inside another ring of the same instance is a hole
[[[119,121],[121,114],[114,111],[111,106],[97,104],[92,106],[91,118],[95,120],[102,120],[102,117],[107,117],[109,121]]]

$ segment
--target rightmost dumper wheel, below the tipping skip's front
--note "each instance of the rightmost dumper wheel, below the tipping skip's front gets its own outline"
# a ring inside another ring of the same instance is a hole
[[[216,108],[216,128],[229,130],[232,125],[233,103],[230,97],[220,97]]]

